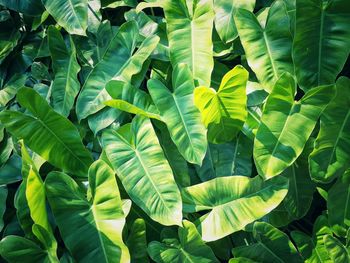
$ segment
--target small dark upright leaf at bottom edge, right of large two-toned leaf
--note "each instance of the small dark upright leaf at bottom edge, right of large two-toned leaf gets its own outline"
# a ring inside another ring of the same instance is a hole
[[[137,218],[131,228],[126,245],[130,250],[131,262],[149,262],[147,256],[146,223]]]

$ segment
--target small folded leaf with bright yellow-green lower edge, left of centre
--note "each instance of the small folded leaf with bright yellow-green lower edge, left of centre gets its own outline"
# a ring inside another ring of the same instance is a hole
[[[149,94],[120,80],[111,80],[106,90],[113,98],[104,102],[105,105],[132,114],[160,120],[159,112]]]

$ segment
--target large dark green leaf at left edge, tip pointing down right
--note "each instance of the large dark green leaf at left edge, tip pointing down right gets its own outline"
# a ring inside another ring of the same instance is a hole
[[[32,115],[10,110],[1,112],[0,121],[6,129],[51,164],[85,177],[92,158],[76,127],[33,89],[20,89],[17,101]]]

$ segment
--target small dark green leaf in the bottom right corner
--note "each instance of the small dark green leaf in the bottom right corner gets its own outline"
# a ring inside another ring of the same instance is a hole
[[[324,245],[328,251],[329,257],[334,263],[349,263],[350,253],[344,245],[335,237],[326,235],[323,238]]]

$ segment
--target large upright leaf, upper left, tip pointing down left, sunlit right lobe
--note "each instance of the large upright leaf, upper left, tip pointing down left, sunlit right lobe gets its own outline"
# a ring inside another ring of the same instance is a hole
[[[135,22],[124,23],[114,35],[101,59],[87,76],[78,97],[76,112],[80,120],[105,107],[103,102],[111,99],[105,89],[110,80],[114,78],[130,82],[131,77],[142,70],[144,61],[155,49],[159,37],[146,38],[134,53],[138,35]]]

